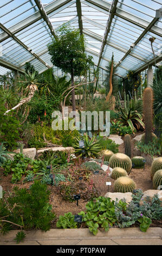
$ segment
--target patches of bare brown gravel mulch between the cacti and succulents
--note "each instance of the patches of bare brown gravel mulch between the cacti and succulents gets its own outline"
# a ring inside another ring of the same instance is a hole
[[[134,136],[133,136],[134,137]],[[133,155],[133,149],[134,149],[134,140],[132,140],[132,155]],[[124,153],[124,143],[119,146],[119,152]],[[150,169],[151,166],[148,166],[145,164],[145,170],[144,169],[132,169],[131,173],[129,175],[130,178],[132,178],[135,181],[135,184],[137,185],[137,189],[141,188],[142,191],[151,190],[153,189],[152,186],[152,180],[150,176]],[[14,186],[18,186],[20,188],[29,188],[33,182],[27,182],[23,184],[23,182],[18,182],[18,184],[12,184],[11,181],[12,175],[4,176],[3,170],[0,168],[0,185],[3,187],[3,190],[6,192],[6,196],[8,196],[9,192],[12,191],[12,188]],[[90,176],[90,179],[93,180],[95,187],[98,189],[100,196],[105,196],[105,194],[108,192],[114,192],[114,180],[110,178],[107,174],[101,173],[100,174],[92,174]],[[111,181],[111,186],[106,186],[106,181]],[[85,211],[87,202],[84,202],[83,199],[79,200],[79,206],[76,205],[76,202],[67,202],[65,200],[62,200],[62,197],[57,191],[57,188],[55,186],[51,187],[48,186],[49,190],[51,190],[51,196],[50,196],[50,204],[53,206],[53,211],[55,212],[57,218],[60,215],[63,215],[66,212],[72,212],[72,214],[78,214],[80,211]],[[159,223],[152,223],[152,227],[159,227]],[[56,228],[56,221],[52,224],[52,228]]]

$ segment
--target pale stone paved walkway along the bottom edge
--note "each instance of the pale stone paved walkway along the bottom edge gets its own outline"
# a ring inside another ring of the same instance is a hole
[[[0,245],[16,245],[17,231],[0,236]],[[143,233],[139,228],[111,228],[99,231],[96,236],[88,229],[50,229],[25,231],[26,237],[18,245],[162,245],[162,228],[148,228]]]

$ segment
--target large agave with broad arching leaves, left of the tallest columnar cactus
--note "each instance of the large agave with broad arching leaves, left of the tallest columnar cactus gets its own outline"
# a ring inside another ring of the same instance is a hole
[[[145,124],[142,122],[142,115],[137,111],[137,107],[137,103],[131,100],[124,109],[120,107],[120,112],[118,113],[123,125],[129,126],[132,131],[139,130],[140,126],[145,128]]]

